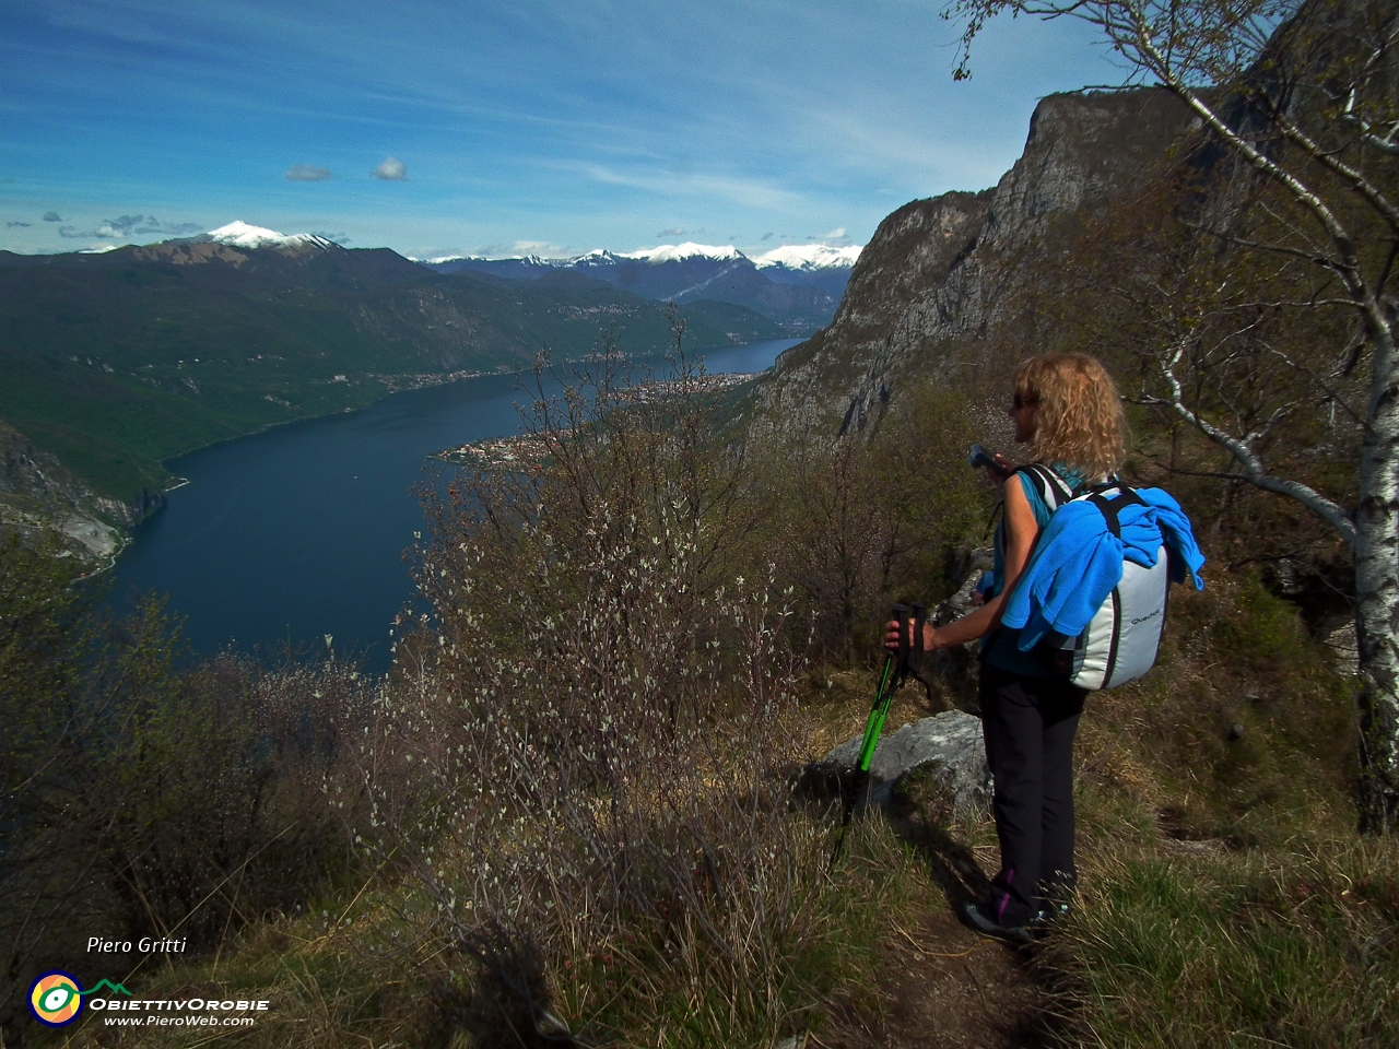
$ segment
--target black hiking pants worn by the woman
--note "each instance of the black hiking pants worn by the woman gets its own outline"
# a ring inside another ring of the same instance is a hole
[[[990,904],[1002,926],[1023,926],[1073,890],[1073,736],[1087,691],[985,663],[979,691],[1000,841]]]

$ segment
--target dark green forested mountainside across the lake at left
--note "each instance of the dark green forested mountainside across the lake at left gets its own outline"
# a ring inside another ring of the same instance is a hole
[[[6,266],[0,418],[99,494],[130,499],[169,480],[166,457],[364,407],[385,393],[376,376],[579,357],[609,327],[628,352],[669,341],[660,304],[599,281],[443,278],[383,255],[175,266],[126,250]],[[726,304],[683,315],[693,345],[782,334]]]

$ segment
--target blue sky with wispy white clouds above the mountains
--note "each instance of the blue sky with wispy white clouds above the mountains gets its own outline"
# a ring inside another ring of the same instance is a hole
[[[865,243],[993,185],[1037,98],[1121,73],[1067,21],[905,0],[0,1],[0,248],[234,220],[404,255]]]

